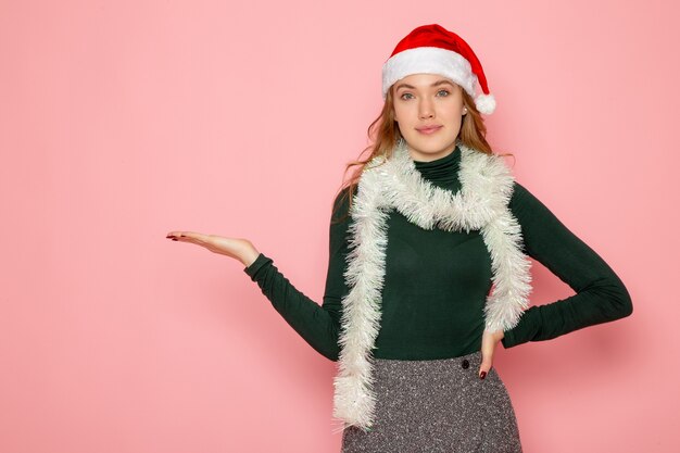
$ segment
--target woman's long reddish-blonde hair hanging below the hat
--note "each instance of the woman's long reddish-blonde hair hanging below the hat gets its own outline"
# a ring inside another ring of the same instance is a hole
[[[493,150],[491,149],[491,146],[486,138],[487,126],[484,125],[484,119],[481,117],[481,114],[477,110],[477,106],[475,105],[475,100],[463,88],[461,88],[459,86],[458,88],[463,93],[463,103],[467,108],[467,114],[463,116],[463,121],[461,124],[458,139],[463,142],[463,144],[469,148],[476,149],[487,154],[493,154]],[[383,155],[387,159],[390,159],[392,156],[394,146],[402,138],[402,135],[399,131],[399,126],[394,121],[394,110],[392,108],[394,102],[393,91],[394,86],[392,85],[385,98],[385,103],[382,104],[382,111],[380,112],[380,115],[378,115],[378,117],[368,126],[368,138],[373,140],[373,142],[360,153],[360,156],[369,150],[370,154],[365,160],[360,159],[349,162],[344,168],[344,175],[347,175],[350,168],[356,167],[350,179],[341,185],[338,193],[336,194],[337,198],[340,192],[343,192],[342,197],[338,199],[338,203],[336,203],[333,207],[333,216],[335,211],[343,204],[343,200],[345,198],[349,198],[349,205],[347,209],[348,212],[345,213],[349,214],[349,210],[352,206],[354,192],[356,191],[356,186],[358,184],[358,178],[361,177],[366,164],[377,155]],[[499,155],[513,154],[508,153]],[[338,219],[337,222],[342,222],[343,219],[344,217]]]

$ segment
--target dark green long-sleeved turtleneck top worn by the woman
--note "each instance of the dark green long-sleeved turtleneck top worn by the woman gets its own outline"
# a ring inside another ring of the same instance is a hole
[[[416,169],[433,185],[459,190],[459,149]],[[264,253],[243,270],[286,322],[316,351],[331,361],[340,353],[338,338],[342,298],[349,292],[347,268],[349,202],[336,197],[330,222],[328,273],[323,304],[307,298]],[[505,330],[504,348],[542,341],[629,316],[632,302],[619,277],[582,240],[563,225],[525,187],[515,183],[509,209],[521,225],[524,252],[540,262],[576,294],[530,306],[519,324]],[[337,222],[345,217],[342,222]],[[388,219],[386,274],[376,358],[451,358],[481,350],[483,306],[491,289],[491,257],[479,230],[426,230],[392,210]]]

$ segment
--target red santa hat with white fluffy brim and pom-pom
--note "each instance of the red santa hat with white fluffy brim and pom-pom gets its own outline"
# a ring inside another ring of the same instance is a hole
[[[382,65],[382,99],[396,81],[412,74],[439,74],[458,84],[487,115],[495,110],[481,63],[467,42],[438,24],[423,25],[399,41]],[[481,93],[476,96],[475,85]]]

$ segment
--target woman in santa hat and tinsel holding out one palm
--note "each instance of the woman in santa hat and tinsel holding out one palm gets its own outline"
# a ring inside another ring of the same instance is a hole
[[[333,202],[320,306],[245,239],[167,237],[241,261],[295,331],[338,362],[343,452],[521,452],[492,366],[498,342],[622,318],[630,295],[492,152],[480,113],[495,100],[461,37],[415,28],[383,65],[382,95],[372,153],[350,164],[358,169]],[[528,307],[529,257],[576,294]]]

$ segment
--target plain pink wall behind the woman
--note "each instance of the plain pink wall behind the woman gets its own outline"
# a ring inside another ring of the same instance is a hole
[[[526,452],[678,451],[678,13],[0,2],[0,451],[339,451],[335,364],[239,262],[165,234],[249,238],[320,302],[330,202],[381,64],[433,22],[480,56],[489,139],[517,179],[633,299],[620,322],[499,347]],[[532,303],[572,293],[532,272]]]

